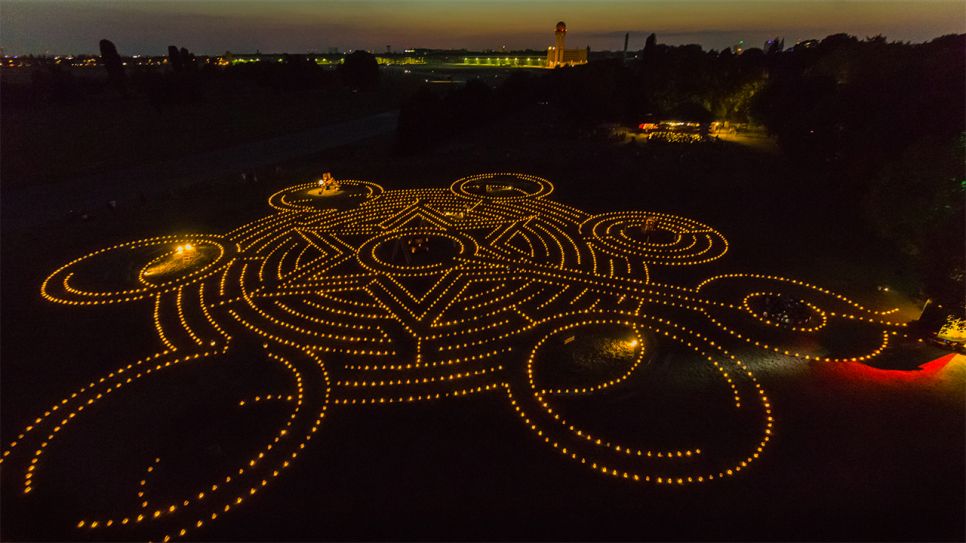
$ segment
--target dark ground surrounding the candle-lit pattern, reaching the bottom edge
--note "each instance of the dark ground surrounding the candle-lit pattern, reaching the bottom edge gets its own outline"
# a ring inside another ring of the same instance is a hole
[[[780,156],[730,144],[629,146],[580,135],[541,108],[414,157],[394,156],[391,144],[372,140],[282,164],[279,174],[266,175],[258,184],[237,184],[214,172],[210,180],[169,198],[99,212],[87,222],[28,231],[4,225],[3,444],[68,391],[157,348],[148,305],[46,303],[39,285],[50,271],[121,241],[227,231],[267,214],[265,200],[275,190],[312,180],[323,169],[386,188],[448,186],[484,171],[532,173],[555,183],[551,197],[557,201],[591,212],[675,213],[711,225],[731,243],[729,253],[715,263],[659,271],[655,280],[691,285],[715,273],[775,273],[875,307],[900,302],[902,315],[915,316],[915,306],[907,301],[911,296],[875,288],[890,284],[914,294],[908,270],[891,266],[892,255],[869,242],[856,227],[856,210],[822,194],[816,188],[819,180],[807,169]],[[233,352],[233,367],[246,371],[185,367],[137,394],[105,402],[98,408],[102,416],[83,422],[65,441],[69,446],[51,453],[50,471],[27,499],[18,495],[22,468],[5,463],[0,472],[3,539],[97,538],[97,533],[73,529],[74,511],[96,509],[105,495],[127,492],[134,500],[135,486],[125,485],[136,484],[151,449],[170,450],[166,458],[177,459],[179,440],[197,444],[202,436],[206,446],[186,447],[180,460],[171,460],[180,462],[182,476],[190,477],[192,469],[204,472],[225,451],[250,446],[245,444],[270,432],[281,416],[277,407],[262,406],[246,416],[217,407],[258,387],[270,388],[278,378],[259,369],[255,346]],[[737,477],[684,487],[603,477],[539,443],[500,392],[422,404],[333,406],[291,469],[191,537],[966,537],[966,371],[961,361],[920,376],[908,370],[945,353],[917,344],[894,348],[883,354],[882,366],[905,370],[895,373],[748,349],[737,354],[769,392],[776,417],[774,439],[762,458]],[[666,432],[662,425],[668,421],[700,417],[708,417],[702,424],[712,424],[713,412],[701,409],[710,400],[695,397],[691,402],[682,395],[688,387],[681,383],[690,381],[691,371],[686,359],[658,349],[619,388],[595,395],[594,401],[570,398],[561,405],[575,418],[615,432],[647,424],[656,433]],[[662,408],[668,409],[666,417]],[[716,435],[727,439],[724,431]]]

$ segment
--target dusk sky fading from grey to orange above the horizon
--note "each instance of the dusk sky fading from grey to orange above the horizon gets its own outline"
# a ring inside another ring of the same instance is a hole
[[[760,47],[847,32],[921,42],[966,32],[960,0],[570,1],[458,0],[0,0],[0,46],[8,55],[96,53],[101,38],[122,54],[164,54],[178,44],[202,54],[324,52],[414,47],[543,49],[554,24],[568,45],[620,49],[625,32],[640,49],[660,43],[722,49]]]

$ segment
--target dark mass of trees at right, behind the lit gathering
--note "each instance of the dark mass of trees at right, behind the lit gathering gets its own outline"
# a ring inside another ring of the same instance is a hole
[[[735,54],[668,46],[653,34],[636,59],[608,59],[426,88],[404,103],[398,146],[418,152],[538,101],[575,126],[644,119],[763,125],[814,191],[844,202],[919,270],[927,295],[964,299],[966,35],[927,43],[834,34],[790,49],[781,39]]]

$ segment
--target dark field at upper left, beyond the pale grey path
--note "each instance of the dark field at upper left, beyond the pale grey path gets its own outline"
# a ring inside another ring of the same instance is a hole
[[[78,71],[81,80],[105,85],[100,71]],[[27,74],[4,77],[23,87],[19,93],[29,93]],[[63,103],[5,104],[4,182],[21,187],[63,181],[365,117],[399,107],[413,85],[397,76],[378,92],[333,86],[282,93],[224,78],[207,82],[188,103],[160,108],[146,96],[121,99],[111,89]]]

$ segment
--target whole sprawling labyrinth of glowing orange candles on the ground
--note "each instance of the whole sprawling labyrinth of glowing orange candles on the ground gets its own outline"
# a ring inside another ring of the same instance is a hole
[[[153,332],[142,358],[52,399],[5,443],[4,476],[18,478],[24,499],[41,499],[48,481],[79,468],[71,442],[85,419],[116,434],[112,417],[150,410],[152,390],[168,387],[211,404],[178,424],[242,421],[246,431],[225,438],[237,447],[194,454],[202,431],[158,450],[129,446],[123,455],[140,471],[108,474],[74,504],[79,537],[167,541],[230,522],[312,462],[313,449],[340,446],[326,440],[326,422],[345,410],[459,409],[455,398],[476,394],[505,399],[508,424],[522,424],[534,447],[612,484],[713,484],[753,470],[780,423],[737,353],[864,361],[903,327],[890,311],[804,281],[702,277],[728,241],[696,220],[593,215],[552,192],[510,173],[415,190],[309,183],[273,194],[270,214],[224,234],[143,239],[67,262],[43,281],[46,300],[85,306],[78,312],[129,304]],[[632,393],[667,357],[690,384],[661,385],[666,397],[653,400],[682,408],[655,407],[660,428],[622,426],[626,413],[597,424],[568,404]],[[269,374],[242,395],[219,386]],[[103,454],[127,442],[112,443]]]

